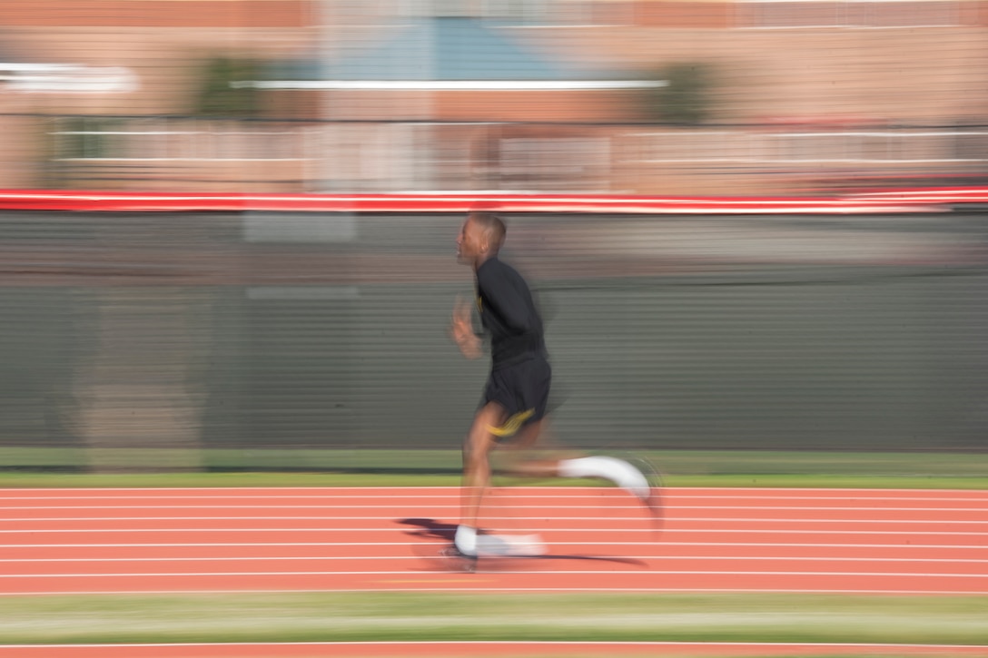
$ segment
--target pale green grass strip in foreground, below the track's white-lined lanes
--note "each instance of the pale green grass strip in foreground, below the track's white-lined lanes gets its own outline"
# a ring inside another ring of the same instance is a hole
[[[0,599],[0,643],[988,644],[985,619],[988,597],[421,593],[16,597]]]

